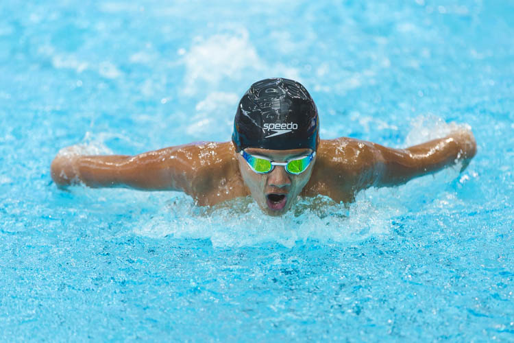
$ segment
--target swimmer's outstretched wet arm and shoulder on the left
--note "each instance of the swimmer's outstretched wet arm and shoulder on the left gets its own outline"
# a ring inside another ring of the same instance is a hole
[[[81,156],[63,150],[51,163],[56,185],[129,187],[208,193],[226,168],[237,167],[228,143],[193,143],[136,156]],[[227,159],[228,158],[228,159]]]

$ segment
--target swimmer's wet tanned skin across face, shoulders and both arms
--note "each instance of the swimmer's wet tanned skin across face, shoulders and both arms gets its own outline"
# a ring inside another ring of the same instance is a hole
[[[304,156],[310,150],[247,149],[276,162]],[[368,187],[401,185],[417,176],[463,163],[476,154],[472,132],[461,130],[406,149],[341,137],[321,140],[315,161],[299,175],[276,166],[269,174],[256,174],[236,154],[232,142],[191,143],[136,156],[77,156],[58,154],[51,176],[60,187],[84,183],[88,187],[130,187],[149,191],[184,191],[201,206],[252,195],[262,211],[280,215],[297,196],[328,196],[336,202],[352,202]],[[286,206],[271,210],[269,193],[286,195]]]

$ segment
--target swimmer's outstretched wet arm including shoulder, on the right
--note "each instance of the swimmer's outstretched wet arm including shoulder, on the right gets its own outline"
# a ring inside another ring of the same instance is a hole
[[[468,130],[406,149],[345,137],[321,140],[306,194],[352,202],[362,189],[402,185],[459,162],[463,170],[475,154],[476,142]]]

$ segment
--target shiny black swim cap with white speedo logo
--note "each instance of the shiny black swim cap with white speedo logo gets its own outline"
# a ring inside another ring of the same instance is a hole
[[[241,98],[234,118],[236,151],[247,147],[271,150],[316,150],[319,119],[313,98],[293,80],[258,81]]]

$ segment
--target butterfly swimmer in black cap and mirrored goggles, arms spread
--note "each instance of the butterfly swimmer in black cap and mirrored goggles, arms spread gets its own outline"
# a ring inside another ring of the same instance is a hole
[[[252,196],[267,215],[299,197],[348,204],[369,187],[401,185],[476,154],[469,130],[406,149],[341,137],[319,139],[316,105],[304,86],[273,78],[252,84],[239,102],[232,141],[200,142],[136,156],[60,152],[51,163],[58,187],[129,187],[183,191],[199,206]]]

